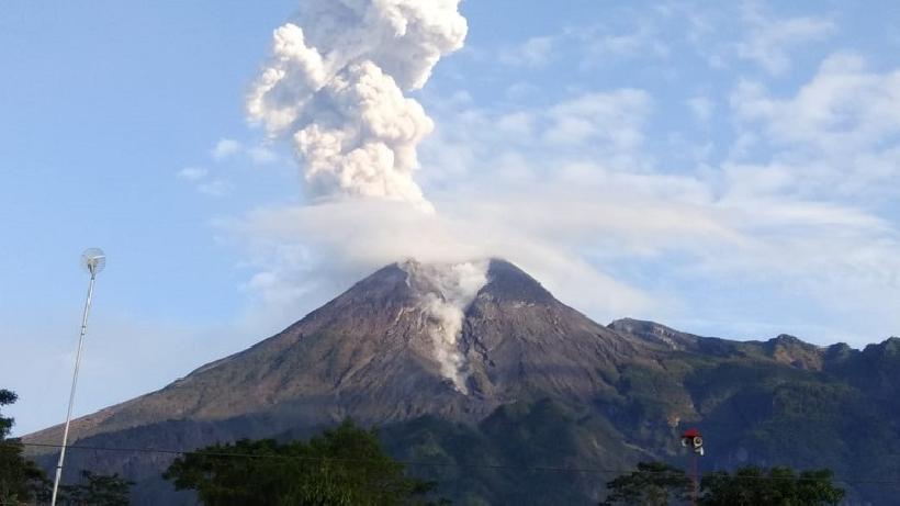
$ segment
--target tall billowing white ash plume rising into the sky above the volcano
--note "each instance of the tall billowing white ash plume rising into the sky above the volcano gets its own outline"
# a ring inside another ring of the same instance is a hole
[[[252,121],[290,135],[314,196],[430,204],[413,180],[434,130],[404,90],[425,86],[462,47],[459,0],[308,0],[274,31],[272,58],[247,99]]]

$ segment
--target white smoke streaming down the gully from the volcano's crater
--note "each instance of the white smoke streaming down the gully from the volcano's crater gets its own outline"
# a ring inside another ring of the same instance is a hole
[[[488,261],[427,265],[407,261],[403,267],[430,289],[421,295],[419,304],[430,318],[428,334],[440,373],[452,381],[458,391],[468,393],[466,361],[460,351],[462,323],[465,310],[487,283]]]

